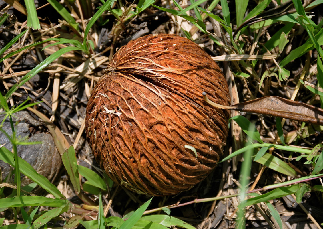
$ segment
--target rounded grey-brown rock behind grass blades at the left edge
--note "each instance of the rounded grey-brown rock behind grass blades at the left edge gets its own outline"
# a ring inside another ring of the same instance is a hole
[[[34,119],[27,111],[15,113],[13,122],[16,123],[15,130],[18,138],[25,139],[27,142],[42,142],[41,144],[17,145],[18,156],[27,161],[41,175],[53,182],[57,177],[62,166],[61,157],[55,146],[53,137],[50,133],[41,132],[42,123]],[[4,119],[4,115],[0,115],[0,121]],[[5,120],[2,129],[12,135],[9,120]],[[35,132],[35,133],[34,133]],[[5,144],[8,150],[12,151],[12,144],[3,132],[0,132],[0,145]],[[10,166],[0,160],[0,168],[3,179],[7,177]],[[12,178],[12,177],[9,177]],[[26,186],[32,181],[25,177],[21,177],[21,185]],[[41,190],[36,188],[36,192]]]

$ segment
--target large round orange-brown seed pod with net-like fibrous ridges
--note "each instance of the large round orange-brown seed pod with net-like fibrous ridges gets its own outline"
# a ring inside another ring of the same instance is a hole
[[[169,36],[150,35],[138,40],[153,44],[151,37],[167,41]],[[193,43],[171,37],[171,45],[174,40],[179,46],[181,40]],[[167,71],[155,72],[148,69],[152,65],[139,61],[130,64],[123,57],[138,58],[138,55],[131,56],[132,49],[151,48],[134,45],[135,41],[120,49],[111,64],[113,71],[102,76],[93,89],[87,106],[87,139],[96,159],[115,182],[138,193],[176,194],[205,178],[223,154],[228,113],[210,107],[195,94],[210,87],[208,93],[213,95],[213,100],[228,105],[226,82],[211,57],[194,43],[194,55],[203,56],[205,63],[209,63],[205,71],[198,63],[189,64],[190,70],[185,72],[183,69],[192,59],[181,50],[176,51],[181,59],[175,61],[181,70],[174,70],[172,63],[166,61],[174,56],[163,52],[157,56],[164,56],[165,61],[158,60],[157,64],[160,68],[171,67]],[[157,53],[158,46],[152,46]],[[186,51],[185,47],[182,49]],[[164,50],[165,43],[159,49]],[[141,58],[152,63],[157,57],[145,54]],[[196,148],[197,158],[185,145]]]

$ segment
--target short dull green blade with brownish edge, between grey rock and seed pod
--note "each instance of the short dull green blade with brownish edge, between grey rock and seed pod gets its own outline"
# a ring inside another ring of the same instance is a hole
[[[68,173],[69,180],[71,181],[75,194],[77,195],[80,192],[81,187],[78,176],[77,159],[73,145],[65,150],[61,156],[64,167]]]

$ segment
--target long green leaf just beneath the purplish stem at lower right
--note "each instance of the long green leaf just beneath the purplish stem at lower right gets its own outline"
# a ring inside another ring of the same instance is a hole
[[[256,203],[261,203],[269,200],[274,200],[283,196],[288,196],[290,194],[295,193],[299,188],[300,188],[300,185],[280,187],[270,192],[267,192],[266,194],[247,199],[244,203],[241,203],[240,205],[241,207],[246,207]]]

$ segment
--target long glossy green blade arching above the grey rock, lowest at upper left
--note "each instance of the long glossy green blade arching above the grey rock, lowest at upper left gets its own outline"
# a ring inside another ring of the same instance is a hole
[[[60,57],[64,53],[70,52],[70,51],[73,51],[73,50],[79,50],[79,48],[77,48],[77,47],[64,47],[64,48],[62,48],[62,49],[54,52],[50,56],[48,56],[44,61],[42,61],[41,63],[39,63],[28,74],[26,74],[24,77],[22,77],[14,86],[12,86],[9,89],[9,91],[5,95],[5,100],[7,100],[12,95],[12,93],[14,93],[20,86],[22,86],[23,84],[25,84],[34,75],[36,75],[38,72],[40,72],[45,67],[47,67],[48,64],[52,63],[54,60],[56,60],[58,57]]]

